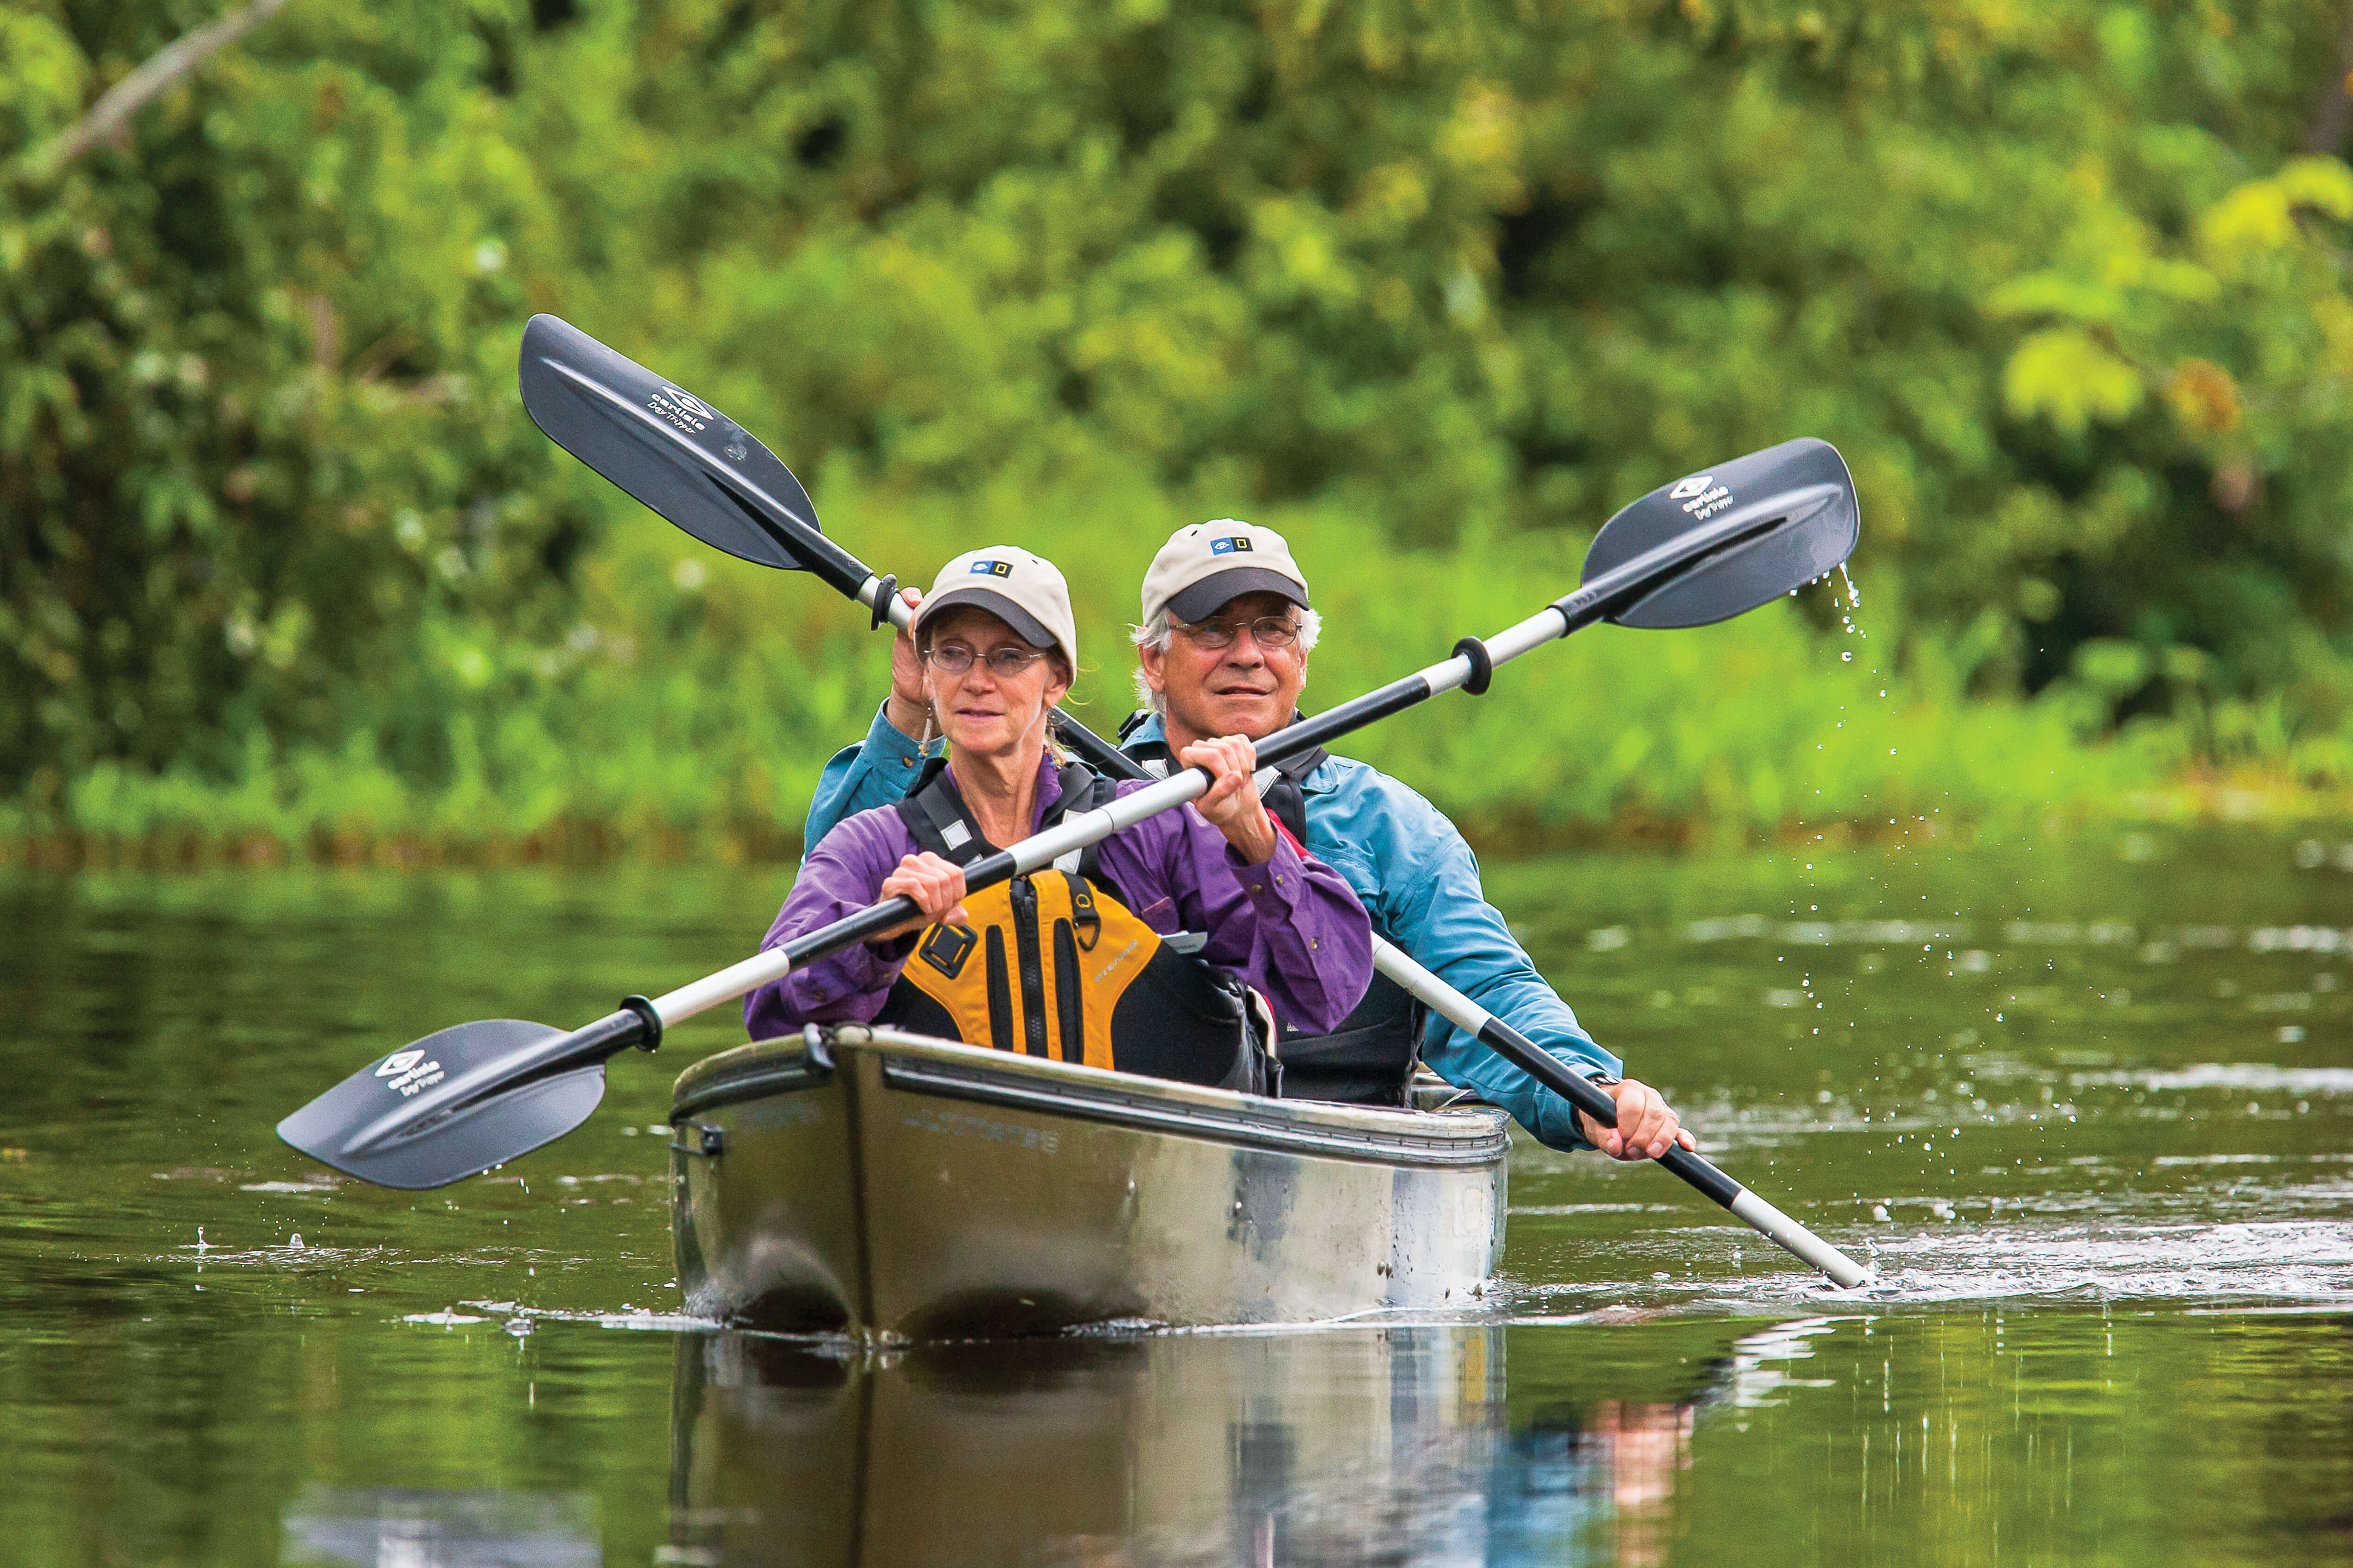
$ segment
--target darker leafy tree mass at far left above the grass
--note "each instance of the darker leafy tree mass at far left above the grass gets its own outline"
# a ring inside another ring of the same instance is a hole
[[[5,9],[0,153],[188,7]],[[586,541],[515,409],[553,214],[480,19],[308,2],[0,186],[0,788],[374,729],[445,771],[449,623],[529,637]],[[544,292],[544,289],[541,289]]]

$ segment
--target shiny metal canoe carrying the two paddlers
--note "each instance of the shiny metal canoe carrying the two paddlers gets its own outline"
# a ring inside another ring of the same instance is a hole
[[[687,1309],[967,1340],[1468,1307],[1504,1248],[1501,1110],[1271,1100],[809,1027],[671,1110]]]

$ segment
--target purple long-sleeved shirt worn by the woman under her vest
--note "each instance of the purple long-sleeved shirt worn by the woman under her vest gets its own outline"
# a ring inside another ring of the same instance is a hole
[[[948,778],[953,785],[955,776]],[[1144,788],[1144,780],[1129,780],[1120,795]],[[1056,799],[1061,783],[1054,764],[1040,759],[1031,832]],[[1226,835],[1186,804],[1111,835],[1099,856],[1104,877],[1136,919],[1160,936],[1207,931],[1202,959],[1264,992],[1278,1020],[1325,1034],[1372,983],[1372,922],[1339,872],[1304,860],[1289,835],[1275,837],[1273,860],[1245,865]],[[899,870],[899,856],[911,853],[915,837],[892,806],[842,818],[802,863],[760,950],[856,914]],[[856,943],[769,980],[744,997],[744,1027],[753,1039],[769,1039],[805,1023],[868,1023],[915,950],[915,933],[885,947]]]

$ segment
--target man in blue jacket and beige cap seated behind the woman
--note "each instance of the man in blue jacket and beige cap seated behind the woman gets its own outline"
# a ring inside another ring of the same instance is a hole
[[[913,602],[913,595],[911,595]],[[1273,529],[1207,522],[1176,529],[1144,576],[1136,691],[1151,705],[1120,743],[1153,771],[1169,748],[1214,736],[1264,741],[1292,722],[1320,621],[1306,574]],[[854,811],[906,795],[936,752],[922,668],[906,637],[892,649],[892,693],[866,743],[826,764],[809,806],[807,844]],[[1501,1105],[1555,1150],[1600,1147],[1614,1159],[1657,1159],[1692,1147],[1657,1091],[1619,1079],[1619,1060],[1593,1044],[1569,1006],[1513,940],[1480,891],[1478,860],[1433,804],[1395,778],[1315,750],[1285,766],[1268,809],[1355,889],[1374,931],[1466,992],[1617,1100],[1605,1128],[1445,1018],[1419,1023],[1405,992],[1377,978],[1334,1032],[1280,1041],[1285,1093],[1400,1103],[1419,1056],[1442,1079]]]

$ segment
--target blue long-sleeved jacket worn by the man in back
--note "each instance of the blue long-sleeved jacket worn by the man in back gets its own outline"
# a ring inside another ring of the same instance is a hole
[[[1129,736],[1132,745],[1155,741],[1160,719]],[[805,853],[845,816],[906,795],[939,750],[939,741],[918,750],[878,708],[866,743],[835,752],[819,776]],[[1577,1013],[1511,936],[1504,912],[1487,903],[1478,858],[1438,806],[1348,757],[1327,757],[1306,776],[1301,795],[1308,851],[1348,879],[1374,931],[1577,1072],[1619,1077],[1619,1060],[1579,1027]],[[1457,1088],[1508,1110],[1539,1143],[1593,1147],[1577,1131],[1567,1100],[1435,1013],[1421,1037],[1421,1060]]]

